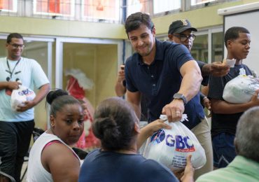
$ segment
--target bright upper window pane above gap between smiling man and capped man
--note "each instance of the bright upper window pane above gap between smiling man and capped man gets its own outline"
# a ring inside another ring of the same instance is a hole
[[[154,14],[181,8],[181,0],[154,0]]]

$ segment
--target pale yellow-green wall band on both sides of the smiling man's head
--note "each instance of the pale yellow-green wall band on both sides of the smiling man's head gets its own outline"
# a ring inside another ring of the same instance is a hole
[[[223,24],[223,17],[218,15],[218,8],[227,8],[245,3],[257,2],[255,0],[240,0],[221,5],[209,6],[183,13],[165,15],[153,18],[157,34],[167,34],[168,26],[174,20],[187,18],[198,29]],[[123,25],[80,22],[70,20],[49,20],[41,18],[21,18],[12,16],[0,16],[0,32],[9,33],[18,31],[21,34],[41,36],[71,36],[90,38],[127,38]]]

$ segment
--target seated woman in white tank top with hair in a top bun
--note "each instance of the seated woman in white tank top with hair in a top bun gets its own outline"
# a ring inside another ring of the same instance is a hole
[[[46,99],[50,129],[31,148],[27,181],[78,181],[80,159],[70,146],[83,132],[83,109],[64,90],[51,91]]]

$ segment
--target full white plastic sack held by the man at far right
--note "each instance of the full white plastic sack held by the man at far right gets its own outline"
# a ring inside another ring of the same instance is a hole
[[[259,81],[256,78],[239,75],[225,85],[223,99],[234,104],[246,103],[258,89]]]

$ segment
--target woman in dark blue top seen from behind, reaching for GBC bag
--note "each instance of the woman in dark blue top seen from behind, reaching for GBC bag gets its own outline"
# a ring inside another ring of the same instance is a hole
[[[94,113],[93,123],[102,148],[87,155],[78,181],[178,181],[167,167],[137,154],[143,141],[162,127],[169,126],[156,120],[140,132],[130,104],[118,97],[104,100]],[[182,180],[193,181],[193,171],[189,156]]]

